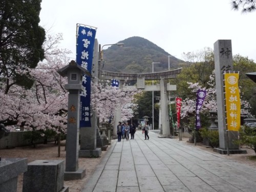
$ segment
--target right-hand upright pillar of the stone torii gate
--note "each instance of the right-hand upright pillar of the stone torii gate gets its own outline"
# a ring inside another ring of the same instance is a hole
[[[170,137],[169,116],[168,116],[168,103],[166,81],[164,78],[160,79],[160,100],[161,100],[161,122],[163,129],[163,137]]]

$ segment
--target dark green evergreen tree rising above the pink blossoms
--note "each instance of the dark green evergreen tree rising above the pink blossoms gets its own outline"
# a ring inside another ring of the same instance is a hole
[[[27,70],[44,59],[40,4],[41,0],[0,1],[0,86],[5,94],[14,84],[31,88]]]

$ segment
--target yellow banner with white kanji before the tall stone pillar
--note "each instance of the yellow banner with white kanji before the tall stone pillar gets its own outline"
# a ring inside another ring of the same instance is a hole
[[[238,89],[238,73],[225,73],[225,101],[226,101],[226,117],[227,130],[240,130],[240,114],[241,103]]]

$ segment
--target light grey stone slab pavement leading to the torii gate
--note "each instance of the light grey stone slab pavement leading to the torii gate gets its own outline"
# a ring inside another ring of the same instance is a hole
[[[114,140],[82,192],[255,192],[256,169],[176,139]]]

